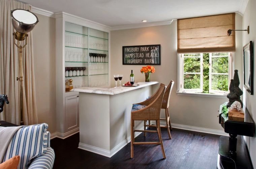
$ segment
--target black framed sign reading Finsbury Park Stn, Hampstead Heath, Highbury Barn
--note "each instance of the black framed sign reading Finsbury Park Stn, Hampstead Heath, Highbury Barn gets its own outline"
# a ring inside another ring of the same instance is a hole
[[[123,46],[123,65],[161,65],[160,45]]]

